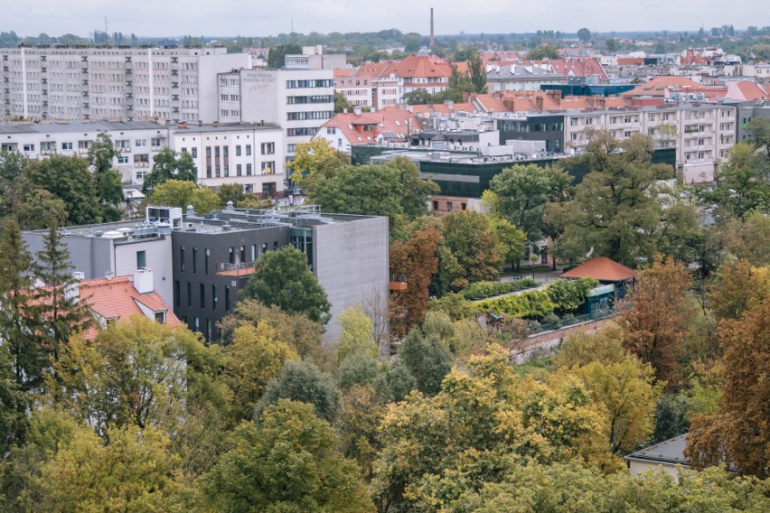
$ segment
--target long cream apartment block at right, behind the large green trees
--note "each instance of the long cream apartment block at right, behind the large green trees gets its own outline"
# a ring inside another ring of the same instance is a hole
[[[675,145],[683,180],[712,182],[718,164],[736,143],[736,107],[703,103],[565,113],[566,146],[585,150],[591,129],[606,130],[618,140],[642,133],[662,145]],[[666,130],[674,129],[675,134],[665,135]]]

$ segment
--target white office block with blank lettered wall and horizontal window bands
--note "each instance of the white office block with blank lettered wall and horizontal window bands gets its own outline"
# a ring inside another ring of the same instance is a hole
[[[217,86],[220,123],[281,126],[286,159],[334,116],[333,70],[235,70]]]

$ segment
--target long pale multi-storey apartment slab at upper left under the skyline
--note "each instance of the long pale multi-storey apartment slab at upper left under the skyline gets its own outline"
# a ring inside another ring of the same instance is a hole
[[[216,74],[248,68],[224,48],[0,49],[4,117],[217,120]]]

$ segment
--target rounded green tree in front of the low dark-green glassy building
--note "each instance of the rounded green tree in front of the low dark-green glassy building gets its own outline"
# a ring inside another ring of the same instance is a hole
[[[508,219],[527,234],[530,241],[544,235],[545,205],[562,201],[568,193],[570,177],[559,167],[515,164],[493,177],[484,199],[494,213]]]

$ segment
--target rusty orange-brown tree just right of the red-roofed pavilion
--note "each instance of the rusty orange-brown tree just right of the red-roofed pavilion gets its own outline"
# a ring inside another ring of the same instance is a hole
[[[692,309],[683,300],[690,274],[672,257],[657,255],[642,271],[636,292],[620,308],[624,347],[655,369],[656,378],[676,385],[681,379],[681,340]]]

